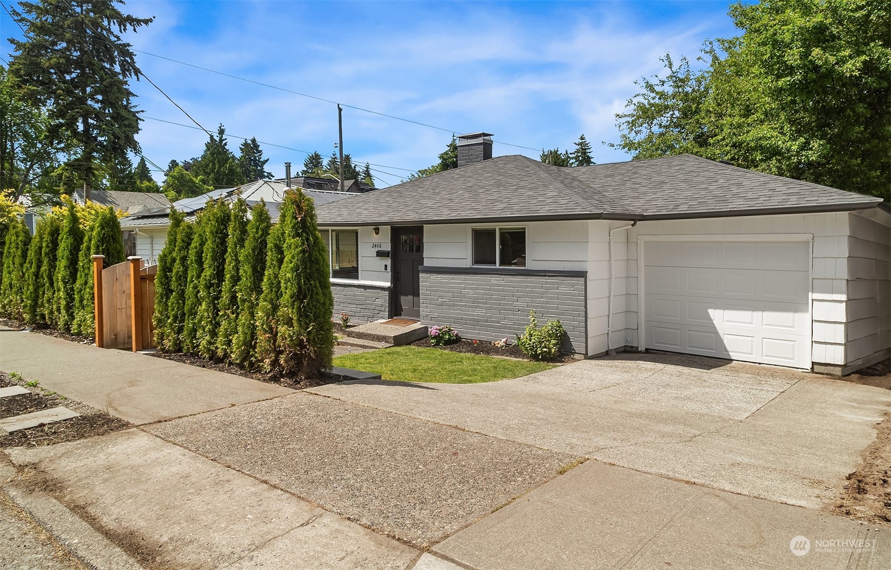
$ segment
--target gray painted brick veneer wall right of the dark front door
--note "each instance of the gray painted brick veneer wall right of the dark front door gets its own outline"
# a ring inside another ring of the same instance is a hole
[[[421,321],[451,324],[463,338],[497,340],[523,332],[529,311],[539,326],[560,319],[565,352],[585,353],[584,272],[421,267]]]

